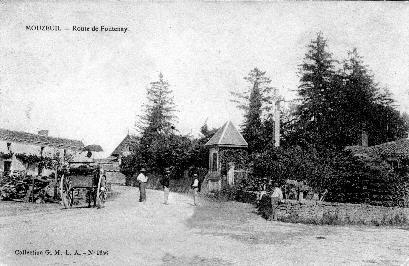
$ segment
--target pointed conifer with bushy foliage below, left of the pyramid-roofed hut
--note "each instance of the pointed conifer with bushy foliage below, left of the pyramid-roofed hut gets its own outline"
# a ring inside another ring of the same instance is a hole
[[[199,140],[176,133],[172,91],[162,74],[159,81],[150,84],[147,99],[145,113],[139,117],[141,136],[132,149],[134,152],[123,158],[121,171],[129,177],[145,167],[157,176],[162,175],[165,168],[170,168],[172,178],[181,178],[192,166],[207,167],[208,151],[204,144],[215,130],[204,125],[201,131],[205,136]]]

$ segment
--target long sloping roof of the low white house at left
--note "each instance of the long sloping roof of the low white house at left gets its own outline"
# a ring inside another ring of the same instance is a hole
[[[82,141],[80,140],[54,138],[2,128],[0,128],[0,139],[3,141],[20,142],[25,144],[54,147],[59,149],[81,150],[84,147],[84,143],[82,143]]]

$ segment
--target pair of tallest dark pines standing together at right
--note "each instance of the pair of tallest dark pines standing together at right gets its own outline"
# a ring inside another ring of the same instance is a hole
[[[335,70],[321,33],[308,46],[300,65],[301,105],[294,143],[343,149],[360,144],[363,131],[369,144],[400,138],[407,130],[387,90],[381,90],[356,49]]]

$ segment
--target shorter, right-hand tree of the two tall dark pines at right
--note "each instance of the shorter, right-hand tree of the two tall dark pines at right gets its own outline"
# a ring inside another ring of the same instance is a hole
[[[404,119],[395,110],[388,90],[381,90],[373,75],[354,48],[348,52],[343,67],[340,117],[343,120],[343,144],[359,144],[366,131],[369,144],[376,145],[401,138],[407,130]]]

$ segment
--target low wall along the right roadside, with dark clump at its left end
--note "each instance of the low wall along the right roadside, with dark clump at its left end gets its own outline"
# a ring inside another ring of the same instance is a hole
[[[276,208],[275,217],[271,199],[264,196],[258,205],[266,219],[309,224],[365,224],[409,225],[409,208],[383,207],[367,204],[332,203],[320,201],[286,201]]]

